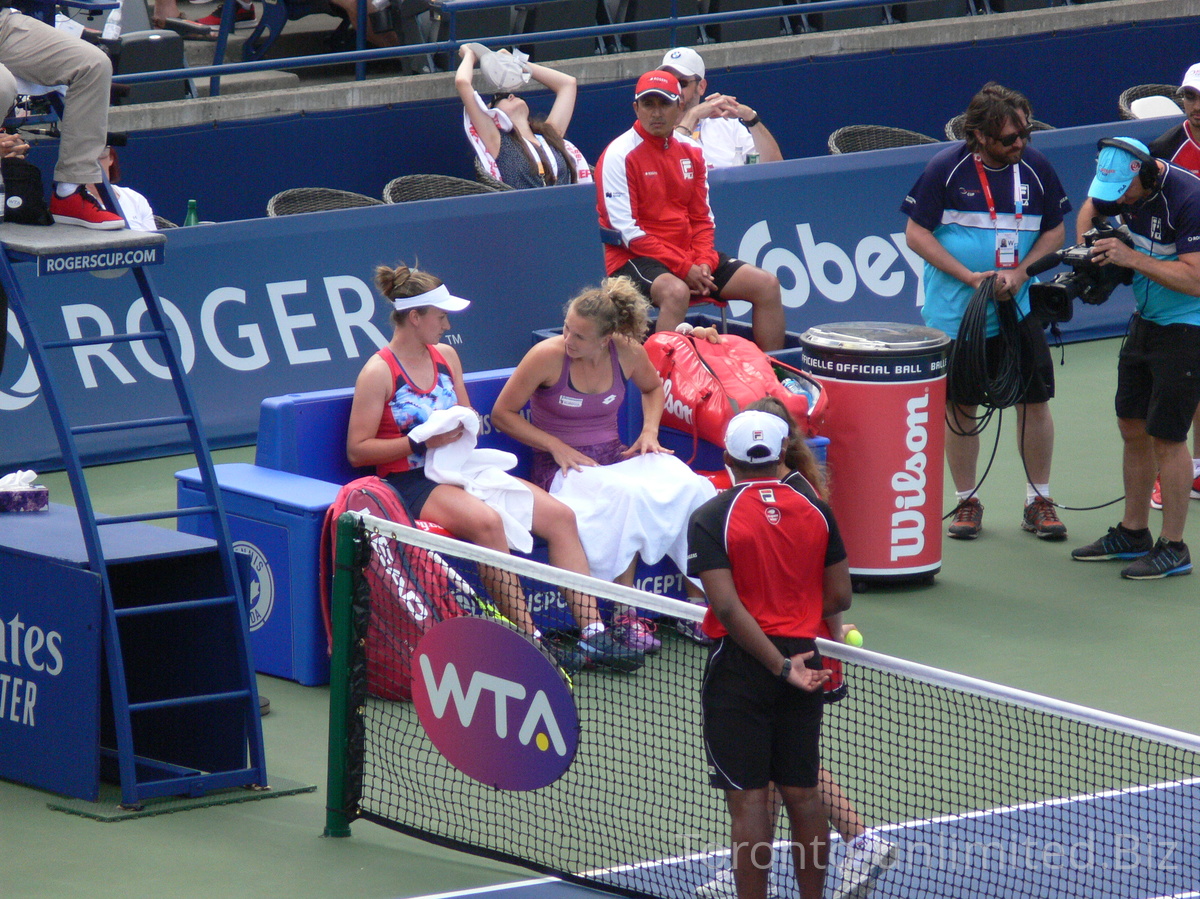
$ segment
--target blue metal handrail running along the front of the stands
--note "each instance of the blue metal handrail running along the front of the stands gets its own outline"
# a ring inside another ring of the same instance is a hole
[[[926,2],[931,0],[907,0],[907,2]],[[444,0],[434,8],[450,14],[450,34],[454,35],[454,14],[457,11],[480,10],[502,6],[530,6],[541,2],[554,2],[554,0],[522,0],[514,4],[512,0]],[[755,10],[734,10],[731,12],[710,12],[695,16],[672,14],[661,19],[642,19],[637,22],[620,22],[610,25],[588,25],[584,28],[557,29],[553,31],[532,31],[520,35],[497,35],[493,37],[473,37],[472,43],[481,43],[485,47],[502,47],[514,42],[541,43],[547,41],[560,41],[571,37],[604,37],[607,35],[636,34],[640,31],[654,31],[658,29],[671,30],[671,43],[674,46],[674,32],[679,28],[714,25],[725,22],[743,22],[767,18],[785,18],[787,16],[803,16],[808,13],[838,12],[840,10],[862,10],[871,7],[894,6],[896,0],[816,0],[815,2],[794,2],[782,6],[764,6]],[[1050,0],[1046,0],[1049,8]],[[985,6],[984,8],[990,8]],[[672,0],[672,13],[676,12],[676,0]],[[454,53],[466,41],[446,40],[428,43],[406,44],[403,47],[380,47],[370,50],[346,50],[342,53],[325,53],[317,56],[288,56],[286,59],[262,59],[253,62],[222,62],[221,65],[194,66],[191,68],[172,68],[161,72],[134,72],[130,74],[114,76],[113,80],[119,84],[145,84],[152,82],[178,80],[180,78],[209,78],[226,74],[240,74],[244,72],[263,72],[277,68],[304,68],[308,66],[331,66],[340,64],[372,62],[377,60],[400,59],[402,56],[420,56],[432,53]],[[359,78],[361,80],[361,77]]]

